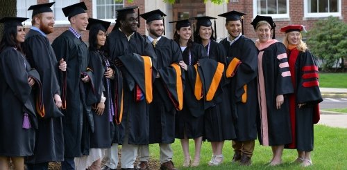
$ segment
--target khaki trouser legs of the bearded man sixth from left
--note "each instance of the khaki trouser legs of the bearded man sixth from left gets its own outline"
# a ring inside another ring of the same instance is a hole
[[[159,144],[160,148],[160,164],[165,162],[169,162],[172,160],[172,156],[174,152],[171,149],[171,144]],[[149,145],[141,145],[139,146],[138,151],[139,161],[149,161]]]

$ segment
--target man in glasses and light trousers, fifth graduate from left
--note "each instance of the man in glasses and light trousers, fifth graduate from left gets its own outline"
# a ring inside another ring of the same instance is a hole
[[[134,167],[138,146],[149,144],[149,103],[156,75],[156,55],[151,42],[137,32],[139,15],[134,9],[138,7],[117,10],[116,25],[105,44],[110,62],[116,64],[121,73],[118,77],[123,78],[123,120],[113,142],[122,144],[121,168],[130,169]]]

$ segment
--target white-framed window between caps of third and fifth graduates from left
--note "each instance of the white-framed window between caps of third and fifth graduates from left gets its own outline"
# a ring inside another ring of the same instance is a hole
[[[93,17],[97,19],[115,21],[117,9],[124,7],[124,1],[115,0],[94,0]]]

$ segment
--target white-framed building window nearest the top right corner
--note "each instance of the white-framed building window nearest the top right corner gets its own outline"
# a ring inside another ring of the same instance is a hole
[[[305,0],[305,17],[341,17],[341,0]]]

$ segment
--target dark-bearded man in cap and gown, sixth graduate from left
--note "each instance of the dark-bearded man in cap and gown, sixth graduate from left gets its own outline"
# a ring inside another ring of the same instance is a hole
[[[174,155],[171,143],[175,141],[176,109],[181,110],[183,105],[183,84],[178,65],[183,58],[178,44],[162,36],[164,16],[167,15],[160,10],[141,15],[146,19],[146,28],[149,31],[149,36],[146,38],[153,44],[158,70],[153,83],[153,102],[149,104],[149,143],[159,144],[160,169],[175,169],[171,161]],[[138,155],[140,162],[136,169],[149,169],[149,145],[139,147]]]

